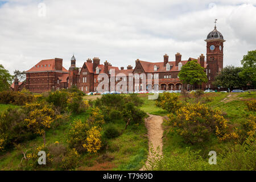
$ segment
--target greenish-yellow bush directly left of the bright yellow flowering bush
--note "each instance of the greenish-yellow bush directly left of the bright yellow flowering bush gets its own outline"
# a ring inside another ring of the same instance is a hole
[[[76,119],[75,121],[73,121],[67,137],[67,143],[69,148],[76,148],[78,152],[86,151],[82,145],[85,143],[88,130],[88,124],[82,123],[80,119]]]

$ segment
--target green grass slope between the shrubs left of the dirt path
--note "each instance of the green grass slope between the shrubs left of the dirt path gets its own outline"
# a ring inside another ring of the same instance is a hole
[[[1,105],[1,107],[7,108],[8,106]],[[60,144],[67,146],[67,133],[71,122],[76,118],[85,121],[88,117],[89,110],[86,113],[72,115],[67,122],[61,123],[55,129],[48,130],[46,133],[47,143],[58,141]],[[107,125],[110,124],[106,123],[103,127]],[[108,140],[108,150],[100,151],[98,154],[82,155],[77,170],[138,170],[143,166],[148,154],[146,127],[142,124],[128,126],[124,130],[126,123],[115,122],[112,125],[117,127],[122,135]],[[42,143],[42,137],[36,137],[34,140],[22,143],[20,146],[22,150],[13,148],[2,152],[0,154],[0,170],[18,170],[22,159],[22,151],[39,146]]]

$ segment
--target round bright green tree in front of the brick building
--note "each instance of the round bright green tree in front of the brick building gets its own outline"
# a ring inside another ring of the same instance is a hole
[[[207,82],[207,75],[204,72],[204,68],[197,63],[196,60],[189,61],[179,72],[180,80],[185,84],[201,84],[202,82]]]

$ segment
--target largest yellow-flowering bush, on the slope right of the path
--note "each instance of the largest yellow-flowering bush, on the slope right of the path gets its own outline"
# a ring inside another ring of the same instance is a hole
[[[200,143],[209,139],[210,134],[215,134],[220,140],[238,138],[236,133],[228,133],[227,120],[221,111],[212,110],[204,104],[187,104],[169,114],[170,122],[175,131],[183,137],[186,143]]]

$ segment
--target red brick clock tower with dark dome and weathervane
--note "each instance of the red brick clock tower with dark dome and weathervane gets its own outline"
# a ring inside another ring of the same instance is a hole
[[[217,19],[216,19],[217,20]],[[213,88],[211,84],[216,75],[223,68],[223,43],[225,42],[221,32],[217,31],[216,20],[214,30],[211,31],[205,42],[207,42],[207,88]]]

